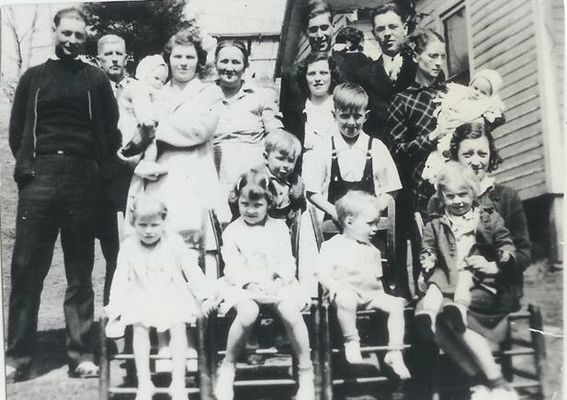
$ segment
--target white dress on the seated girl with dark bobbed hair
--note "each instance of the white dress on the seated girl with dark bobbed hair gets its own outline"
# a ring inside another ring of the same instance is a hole
[[[243,298],[266,304],[290,300],[300,309],[309,303],[307,292],[295,277],[291,238],[283,220],[267,217],[264,225],[252,226],[239,217],[227,226],[222,239],[225,268],[219,281],[221,311],[228,311]],[[276,281],[280,283],[278,289],[265,298],[244,289],[250,283],[267,288]]]

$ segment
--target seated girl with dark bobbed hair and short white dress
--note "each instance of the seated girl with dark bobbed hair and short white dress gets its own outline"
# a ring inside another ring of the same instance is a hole
[[[273,307],[291,342],[299,369],[298,400],[315,396],[313,367],[307,327],[301,310],[309,304],[295,277],[291,238],[285,222],[270,217],[276,191],[271,177],[250,170],[236,183],[231,200],[237,199],[240,217],[222,235],[225,262],[224,306],[236,309],[230,326],[226,356],[219,367],[215,386],[217,400],[232,400],[236,361],[259,315],[259,305]]]

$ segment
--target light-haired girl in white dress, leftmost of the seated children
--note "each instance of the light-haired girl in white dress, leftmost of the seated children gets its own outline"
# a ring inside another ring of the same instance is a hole
[[[180,236],[166,232],[167,208],[161,201],[140,195],[133,203],[130,224],[135,235],[120,246],[112,279],[109,337],[121,337],[133,325],[133,350],[138,376],[136,400],[151,400],[155,387],[150,376],[149,329],[169,331],[173,362],[170,393],[173,400],[186,400],[186,323],[208,315],[216,303],[198,254],[187,249]]]

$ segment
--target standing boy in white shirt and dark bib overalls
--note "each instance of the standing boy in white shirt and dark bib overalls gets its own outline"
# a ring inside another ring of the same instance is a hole
[[[398,170],[386,145],[363,132],[368,111],[368,95],[360,86],[346,82],[333,91],[337,130],[329,140],[313,149],[313,163],[303,171],[307,198],[320,209],[323,231],[339,231],[335,202],[351,190],[360,190],[380,198],[402,188]],[[403,267],[403,266],[401,266]],[[406,273],[384,271],[390,285]]]

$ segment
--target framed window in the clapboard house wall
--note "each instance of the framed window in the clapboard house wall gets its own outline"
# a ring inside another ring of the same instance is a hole
[[[448,80],[468,85],[469,71],[469,45],[464,5],[452,9],[441,17],[443,33],[447,46],[447,72]]]

